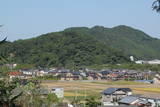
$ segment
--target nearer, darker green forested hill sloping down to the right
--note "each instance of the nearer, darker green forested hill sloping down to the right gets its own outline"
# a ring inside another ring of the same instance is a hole
[[[85,32],[62,31],[36,38],[8,42],[0,47],[1,56],[12,53],[13,62],[36,66],[85,66],[128,62],[120,51],[112,49]]]

